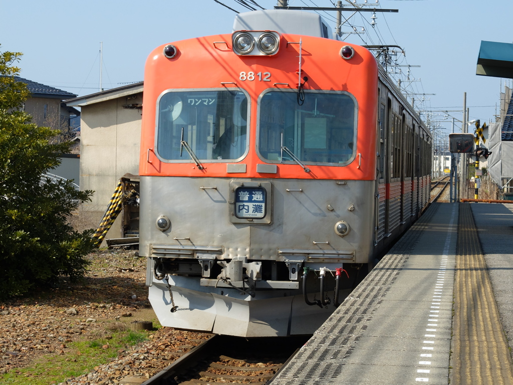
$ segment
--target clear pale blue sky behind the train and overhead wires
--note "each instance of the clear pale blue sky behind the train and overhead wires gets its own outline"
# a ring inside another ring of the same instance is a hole
[[[220,1],[245,11],[235,0]],[[256,1],[267,9],[277,4],[277,0]],[[313,3],[331,6],[330,0],[289,1],[290,6]],[[0,50],[24,53],[19,64],[22,77],[81,96],[97,92],[100,86],[100,42],[103,87],[114,88],[144,79],[144,63],[154,47],[195,36],[229,33],[235,15],[213,0],[50,0],[42,4],[35,0],[0,0]],[[406,55],[399,54],[397,62],[421,66],[411,68],[410,79],[415,78],[415,82],[411,82],[410,91],[426,94],[419,108],[434,111],[432,119],[443,126],[450,128],[443,123],[443,110],[461,110],[464,92],[470,119],[495,121],[501,83],[502,87],[505,82],[511,86],[511,81],[477,76],[476,63],[481,40],[513,43],[513,2],[381,0],[378,7],[399,9],[399,13],[377,13],[377,26],[372,28],[371,13],[362,12],[363,17],[354,16],[350,22],[358,31],[363,26],[366,33],[346,35],[344,40],[401,46]],[[334,28],[334,13],[320,13]],[[343,26],[342,30],[350,28]],[[462,119],[461,112],[450,114]]]

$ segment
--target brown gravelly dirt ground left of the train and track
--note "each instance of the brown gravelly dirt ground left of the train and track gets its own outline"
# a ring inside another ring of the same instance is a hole
[[[146,258],[139,258],[134,251],[111,250],[87,258],[91,265],[81,282],[61,279],[47,291],[0,303],[0,376],[25,368],[41,356],[63,355],[70,342],[108,338],[112,330],[127,329],[133,321],[158,325],[145,286]],[[182,352],[181,347],[207,337],[162,328],[150,341],[119,352],[116,366],[123,370],[100,365],[94,372],[64,383],[119,383],[130,375],[148,376],[177,357],[169,356],[170,351]],[[134,354],[145,354],[147,359],[134,360]],[[122,364],[125,361],[128,364]]]

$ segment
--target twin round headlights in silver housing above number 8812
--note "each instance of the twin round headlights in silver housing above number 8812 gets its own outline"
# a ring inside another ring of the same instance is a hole
[[[280,35],[272,31],[237,31],[231,40],[238,55],[273,55],[280,45]]]

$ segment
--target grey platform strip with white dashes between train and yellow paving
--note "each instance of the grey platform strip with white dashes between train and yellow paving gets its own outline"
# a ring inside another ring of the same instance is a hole
[[[433,204],[272,381],[447,384],[457,204]]]

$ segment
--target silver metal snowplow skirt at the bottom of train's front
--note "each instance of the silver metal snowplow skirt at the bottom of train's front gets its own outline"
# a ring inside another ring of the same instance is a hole
[[[322,309],[307,305],[299,291],[287,296],[263,291],[255,298],[241,294],[240,299],[174,285],[171,292],[175,312],[166,281],[154,281],[149,287],[149,300],[163,326],[240,337],[313,334],[335,310],[333,304]],[[347,294],[341,291],[341,300]],[[328,295],[333,298],[333,292]]]

